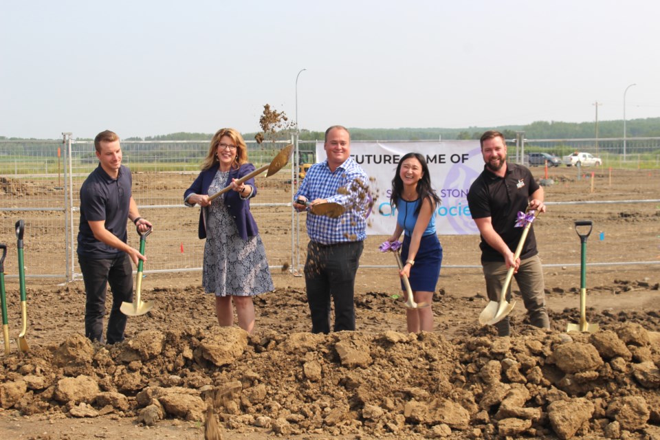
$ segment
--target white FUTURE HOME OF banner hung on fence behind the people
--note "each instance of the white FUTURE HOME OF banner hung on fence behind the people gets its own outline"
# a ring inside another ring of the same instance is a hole
[[[390,205],[392,179],[399,159],[407,153],[426,157],[431,185],[441,199],[435,225],[439,235],[478,234],[467,207],[467,191],[483,171],[483,157],[478,141],[439,142],[351,142],[351,157],[370,178],[373,208],[367,219],[369,235],[391,235],[397,212]],[[323,142],[316,143],[316,159],[326,159]]]

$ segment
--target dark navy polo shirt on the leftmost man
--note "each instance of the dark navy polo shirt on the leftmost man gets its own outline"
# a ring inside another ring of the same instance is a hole
[[[124,252],[94,238],[87,221],[105,221],[105,228],[126,243],[126,220],[131,201],[131,170],[120,166],[113,179],[98,165],[80,187],[80,228],[78,255],[90,259],[112,259]]]

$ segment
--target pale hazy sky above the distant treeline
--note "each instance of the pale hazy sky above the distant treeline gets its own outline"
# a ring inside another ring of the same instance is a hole
[[[660,116],[657,0],[0,0],[0,135]],[[602,103],[596,107],[595,102]]]

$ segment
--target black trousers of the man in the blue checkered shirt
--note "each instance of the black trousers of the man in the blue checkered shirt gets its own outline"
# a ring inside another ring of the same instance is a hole
[[[322,245],[310,241],[305,262],[305,286],[312,333],[330,333],[330,299],[335,305],[334,331],[355,330],[355,273],[362,241]]]

